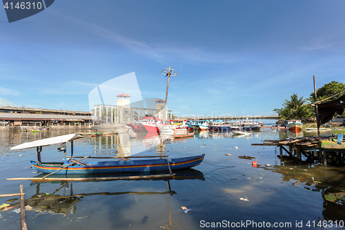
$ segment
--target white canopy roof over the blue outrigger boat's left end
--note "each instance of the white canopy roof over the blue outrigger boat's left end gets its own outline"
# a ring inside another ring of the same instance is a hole
[[[64,143],[64,142],[70,142],[72,140],[77,140],[81,137],[83,137],[83,136],[78,135],[77,133],[62,135],[62,136],[58,136],[58,137],[50,137],[50,138],[46,138],[46,139],[42,139],[42,140],[37,140],[34,142],[26,142],[23,144],[19,144],[17,146],[10,148],[10,150],[21,149],[21,148],[34,148],[37,146],[47,146],[50,144],[60,144],[60,143]]]

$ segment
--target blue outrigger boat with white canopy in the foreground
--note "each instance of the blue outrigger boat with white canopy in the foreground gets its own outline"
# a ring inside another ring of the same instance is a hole
[[[93,173],[121,173],[121,172],[152,172],[152,171],[170,171],[177,169],[187,169],[193,166],[201,164],[204,160],[205,154],[196,155],[192,157],[180,157],[168,159],[166,155],[153,155],[153,156],[130,156],[130,157],[73,157],[73,140],[77,140],[83,136],[78,134],[62,135],[59,137],[50,137],[43,140],[37,140],[34,142],[26,142],[10,148],[21,149],[21,148],[37,148],[37,162],[31,161],[32,168],[42,173],[53,173],[56,174],[93,174]],[[71,143],[71,155],[66,157],[66,142]],[[48,146],[51,144],[61,144],[58,151],[63,151],[64,160],[63,162],[41,162],[41,151],[42,146]],[[156,157],[159,159],[148,159],[148,160],[130,160],[129,158],[135,157]],[[117,158],[112,161],[101,161],[101,162],[81,162],[76,160],[81,158]],[[44,178],[46,178],[46,175]]]

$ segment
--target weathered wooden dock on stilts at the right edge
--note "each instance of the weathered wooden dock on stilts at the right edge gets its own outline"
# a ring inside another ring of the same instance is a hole
[[[345,164],[345,148],[321,147],[319,142],[337,139],[334,135],[320,137],[299,137],[285,140],[264,140],[255,146],[277,146],[279,147],[279,157],[284,157],[283,150],[291,159],[302,161],[302,156],[306,161],[318,161],[323,164]],[[344,146],[344,145],[342,145]]]

